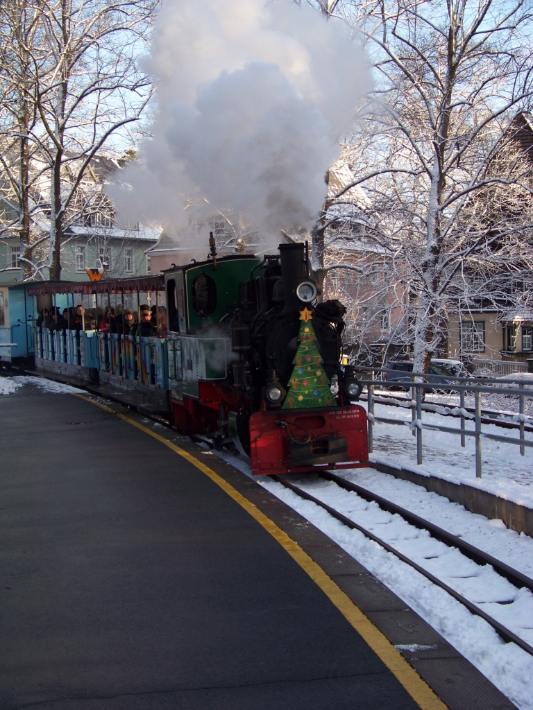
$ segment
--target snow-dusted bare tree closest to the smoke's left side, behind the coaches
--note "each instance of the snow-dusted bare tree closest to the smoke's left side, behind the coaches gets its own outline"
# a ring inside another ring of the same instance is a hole
[[[50,278],[60,278],[65,216],[87,165],[104,143],[139,119],[151,82],[139,69],[155,0],[41,1],[50,65],[36,82],[50,169]],[[74,179],[63,190],[65,165]]]

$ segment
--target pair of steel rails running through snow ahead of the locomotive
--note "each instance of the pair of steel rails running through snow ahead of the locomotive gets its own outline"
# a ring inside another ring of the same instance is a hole
[[[439,528],[437,525],[434,525],[433,523],[429,522],[429,520],[420,518],[419,515],[411,513],[409,510],[405,510],[404,508],[397,506],[396,503],[392,503],[392,501],[388,501],[385,498],[382,498],[381,496],[377,496],[375,493],[371,493],[370,491],[367,491],[367,489],[362,488],[361,486],[357,486],[357,484],[354,484],[351,481],[347,481],[341,476],[333,474],[330,471],[321,471],[320,473],[318,473],[318,478],[323,479],[325,481],[332,481],[333,483],[340,486],[340,488],[343,488],[345,491],[356,493],[357,496],[360,496],[365,501],[377,503],[379,507],[382,508],[382,510],[400,515],[402,518],[404,518],[404,520],[407,521],[407,523],[409,523],[410,525],[414,525],[414,527],[419,528],[420,530],[427,530],[430,533],[431,537],[434,537],[436,540],[443,542],[448,547],[456,547],[463,553],[463,555],[465,555],[465,557],[468,557],[469,559],[473,560],[473,562],[475,562],[476,564],[490,564],[495,570],[495,572],[497,572],[497,574],[500,574],[501,577],[507,579],[507,581],[509,581],[510,584],[512,584],[513,586],[516,586],[517,589],[526,587],[527,589],[529,589],[529,591],[533,592],[533,580],[527,577],[527,575],[522,574],[522,572],[519,572],[516,569],[513,569],[509,565],[505,564],[505,562],[502,562],[501,560],[492,557],[492,555],[488,555],[486,552],[483,552],[483,550],[478,550],[477,547],[470,545],[470,543],[465,542],[465,540],[461,540],[461,537],[457,537],[451,532]],[[515,643],[517,646],[519,646],[519,648],[522,648],[522,650],[533,655],[533,647],[532,645],[529,645],[527,641],[520,638],[514,631],[505,627],[502,623],[500,623],[500,621],[497,621],[497,619],[490,616],[490,614],[488,614],[483,608],[480,608],[478,604],[474,603],[473,601],[470,601],[470,599],[467,599],[459,591],[453,589],[453,587],[451,587],[449,584],[446,584],[445,581],[442,581],[441,579],[436,577],[435,574],[432,574],[431,572],[429,572],[429,570],[425,569],[417,562],[414,562],[413,559],[410,559],[410,557],[404,555],[403,552],[397,550],[397,548],[391,545],[389,542],[383,540],[382,537],[376,535],[375,532],[372,532],[372,530],[368,530],[359,523],[356,523],[351,518],[348,518],[348,516],[344,513],[341,513],[339,510],[336,510],[328,503],[321,501],[320,498],[316,498],[316,496],[313,496],[308,491],[303,490],[303,488],[286,479],[286,477],[271,476],[271,479],[275,480],[282,486],[289,488],[289,490],[293,491],[301,498],[304,498],[306,501],[311,501],[312,503],[315,503],[317,506],[320,506],[324,510],[327,510],[328,513],[333,516],[333,518],[340,520],[340,522],[344,525],[347,525],[348,528],[352,528],[352,530],[359,530],[359,532],[362,532],[362,534],[368,537],[370,540],[377,542],[377,544],[383,547],[384,550],[392,552],[392,554],[396,555],[396,557],[401,559],[402,562],[409,564],[410,567],[413,567],[414,569],[416,569],[417,572],[423,574],[426,579],[429,579],[431,582],[433,582],[433,584],[436,584],[441,589],[450,594],[450,596],[453,596],[453,599],[456,599],[461,604],[463,604],[463,606],[468,608],[471,613],[475,614],[476,616],[480,616],[480,618],[483,618],[507,643]]]

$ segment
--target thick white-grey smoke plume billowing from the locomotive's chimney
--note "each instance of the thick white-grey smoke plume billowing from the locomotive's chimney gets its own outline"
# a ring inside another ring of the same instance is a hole
[[[153,137],[115,187],[119,212],[179,226],[232,210],[276,241],[311,228],[369,87],[342,26],[289,0],[166,0],[145,65]]]

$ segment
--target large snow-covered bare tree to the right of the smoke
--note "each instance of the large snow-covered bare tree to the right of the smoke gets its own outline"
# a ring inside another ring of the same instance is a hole
[[[476,265],[490,264],[486,285],[500,278],[506,296],[505,272],[532,256],[531,169],[523,151],[509,151],[533,94],[530,4],[345,0],[335,17],[364,38],[375,89],[345,146],[355,179],[318,220],[315,268],[323,275],[328,266],[335,204],[360,187],[368,203],[355,221],[416,295],[407,302],[415,368],[424,371]]]

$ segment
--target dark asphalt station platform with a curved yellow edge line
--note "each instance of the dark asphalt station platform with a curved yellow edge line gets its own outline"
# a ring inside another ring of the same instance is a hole
[[[157,422],[26,385],[0,398],[0,452],[0,710],[514,707],[322,532]],[[408,662],[404,638],[433,650]]]

